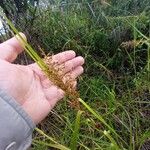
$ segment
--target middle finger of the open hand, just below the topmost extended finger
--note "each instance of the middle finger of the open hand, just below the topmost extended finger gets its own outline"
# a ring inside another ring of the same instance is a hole
[[[72,60],[67,61],[63,66],[62,73],[66,74],[67,72],[73,71],[78,66],[82,66],[84,64],[84,58],[79,56]],[[59,67],[59,66],[58,66]],[[61,67],[60,67],[61,68]]]

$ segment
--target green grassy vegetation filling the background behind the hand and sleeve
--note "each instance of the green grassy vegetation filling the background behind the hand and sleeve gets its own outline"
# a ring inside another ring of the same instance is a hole
[[[64,99],[39,125],[33,150],[150,149],[149,0],[2,0],[0,6],[41,56],[73,49],[86,59],[78,85],[82,111]],[[12,36],[3,25],[1,42]],[[32,61],[24,53],[18,62]]]

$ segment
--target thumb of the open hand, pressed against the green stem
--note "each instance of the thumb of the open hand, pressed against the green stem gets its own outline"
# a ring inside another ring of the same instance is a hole
[[[26,40],[26,36],[23,33],[19,33],[20,36]],[[20,39],[21,41],[21,39]],[[0,44],[0,59],[4,59],[8,62],[14,61],[18,54],[23,51],[23,46],[19,42],[19,37],[15,36],[6,42]]]

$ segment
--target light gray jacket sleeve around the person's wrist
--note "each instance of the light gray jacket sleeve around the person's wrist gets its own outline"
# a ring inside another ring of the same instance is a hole
[[[0,150],[26,150],[35,124],[21,106],[0,90]]]

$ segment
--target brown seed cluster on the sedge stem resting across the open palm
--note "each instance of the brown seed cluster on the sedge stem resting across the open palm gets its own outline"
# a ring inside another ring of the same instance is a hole
[[[71,77],[71,75],[64,75],[63,70],[64,66],[59,65],[57,62],[53,62],[52,56],[45,56],[44,62],[46,63],[46,72],[50,81],[52,81],[56,86],[62,89],[67,98],[69,98],[69,103],[71,107],[80,108],[78,98],[79,93],[75,88],[75,79]]]

